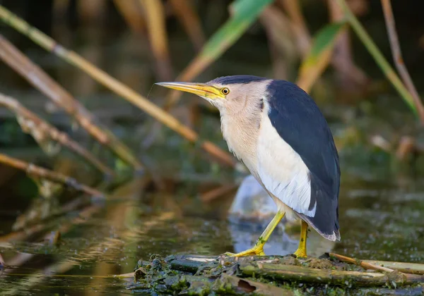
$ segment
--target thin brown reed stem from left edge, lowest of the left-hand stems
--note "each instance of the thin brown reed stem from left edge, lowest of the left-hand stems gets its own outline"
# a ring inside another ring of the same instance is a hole
[[[56,183],[64,184],[75,190],[84,192],[88,195],[93,195],[94,197],[105,197],[102,192],[95,190],[94,188],[89,187],[87,185],[78,183],[75,179],[68,177],[67,175],[56,173],[54,171],[49,171],[46,168],[35,166],[35,164],[29,164],[25,161],[15,159],[5,154],[0,154],[0,164],[5,164],[6,166],[11,166],[13,168],[18,168],[18,170],[25,171],[26,173],[28,173],[28,175],[33,175],[34,177],[45,178]]]

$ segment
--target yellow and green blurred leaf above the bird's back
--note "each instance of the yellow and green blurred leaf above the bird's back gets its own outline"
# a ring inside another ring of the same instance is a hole
[[[323,27],[312,41],[312,47],[309,54],[305,57],[300,65],[297,84],[309,92],[319,75],[322,74],[326,66],[328,66],[331,52],[338,35],[346,29],[346,23],[331,23]]]

